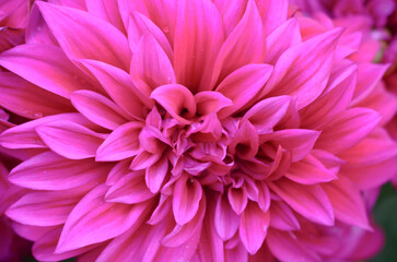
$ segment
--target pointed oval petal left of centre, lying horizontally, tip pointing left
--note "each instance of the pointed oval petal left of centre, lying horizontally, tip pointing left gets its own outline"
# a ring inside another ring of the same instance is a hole
[[[104,141],[104,135],[72,121],[49,122],[36,131],[49,148],[70,159],[94,157]]]

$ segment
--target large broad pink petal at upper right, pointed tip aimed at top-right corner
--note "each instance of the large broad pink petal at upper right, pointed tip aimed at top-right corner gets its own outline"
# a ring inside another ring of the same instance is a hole
[[[270,96],[296,96],[297,109],[314,102],[328,82],[340,34],[341,28],[335,28],[284,51],[262,95],[271,90]]]

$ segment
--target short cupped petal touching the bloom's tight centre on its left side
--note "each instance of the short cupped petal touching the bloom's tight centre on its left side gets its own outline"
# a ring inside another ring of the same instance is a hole
[[[96,160],[121,160],[138,154],[138,136],[142,129],[140,122],[128,122],[118,127],[96,151]]]

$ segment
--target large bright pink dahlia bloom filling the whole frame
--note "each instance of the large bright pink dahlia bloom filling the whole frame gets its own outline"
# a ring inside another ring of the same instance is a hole
[[[7,215],[36,259],[324,261],[311,239],[365,240],[362,191],[397,170],[387,66],[359,59],[357,28],[288,10],[36,2],[0,55],[0,105],[32,119],[0,144],[34,154]]]

